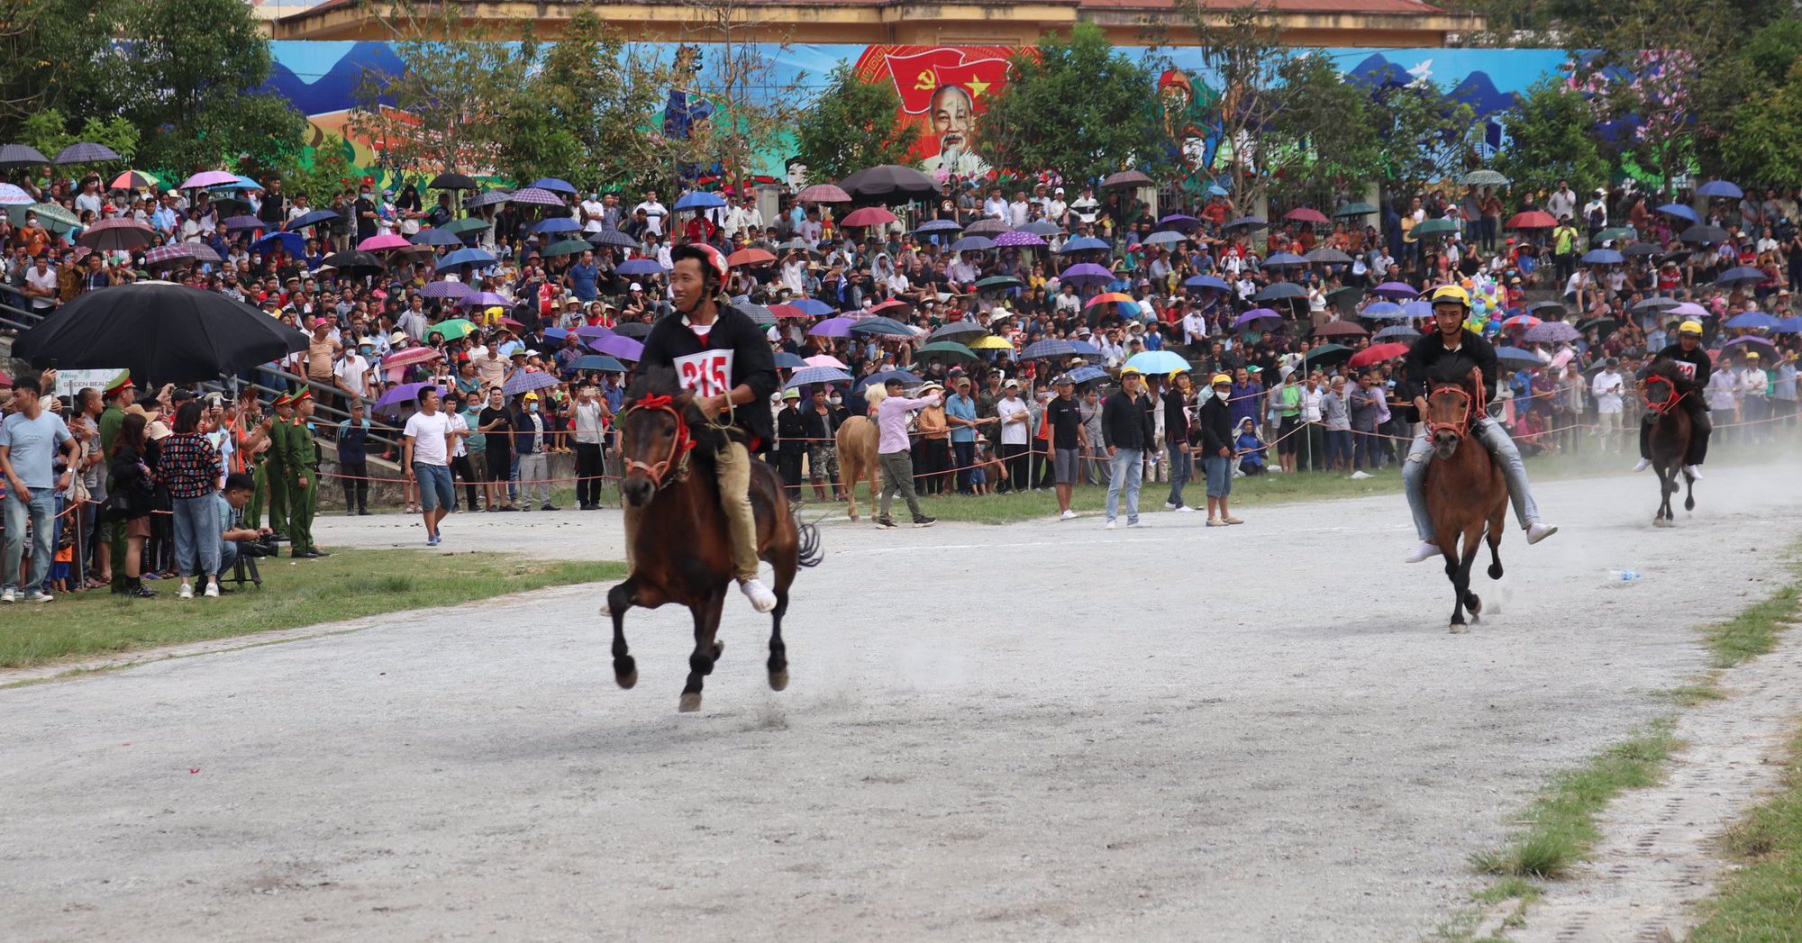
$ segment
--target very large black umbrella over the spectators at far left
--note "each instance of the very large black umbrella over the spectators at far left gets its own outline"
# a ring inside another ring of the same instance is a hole
[[[141,383],[195,383],[306,349],[306,335],[216,292],[144,281],[88,292],[13,342],[65,369],[128,369]]]

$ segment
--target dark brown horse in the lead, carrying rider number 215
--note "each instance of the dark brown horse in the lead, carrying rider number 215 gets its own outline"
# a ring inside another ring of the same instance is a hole
[[[714,673],[724,646],[715,639],[719,615],[732,587],[732,534],[719,506],[714,452],[726,430],[714,427],[681,389],[676,371],[649,367],[633,380],[620,414],[620,455],[625,480],[620,491],[638,509],[629,549],[633,572],[607,592],[613,615],[613,677],[620,687],[638,684],[638,664],[625,646],[625,610],[679,603],[694,614],[694,653],[681,709],[701,709],[701,678]],[[757,518],[757,554],[775,567],[777,608],[769,630],[769,687],[787,687],[787,646],[782,615],[798,567],[820,563],[820,533],[795,520],[775,468],[751,459],[751,513]]]

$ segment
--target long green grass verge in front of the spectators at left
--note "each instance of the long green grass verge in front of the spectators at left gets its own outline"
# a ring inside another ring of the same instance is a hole
[[[524,560],[496,552],[339,551],[324,560],[261,561],[249,583],[218,599],[177,599],[177,581],[148,583],[155,599],[106,590],[0,610],[0,668],[229,639],[384,612],[449,606],[508,592],[625,576],[623,563]],[[231,587],[231,583],[227,583]]]

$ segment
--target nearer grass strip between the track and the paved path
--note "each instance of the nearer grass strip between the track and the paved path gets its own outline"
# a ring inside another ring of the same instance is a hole
[[[1656,783],[1674,749],[1670,718],[1661,718],[1557,776],[1528,806],[1532,824],[1506,846],[1474,855],[1472,866],[1505,878],[1564,876],[1595,844],[1597,813],[1615,795]]]

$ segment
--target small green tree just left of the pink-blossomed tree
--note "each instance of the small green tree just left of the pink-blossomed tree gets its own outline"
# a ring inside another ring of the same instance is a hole
[[[1584,191],[1607,182],[1607,160],[1595,139],[1595,108],[1562,81],[1539,79],[1501,119],[1508,140],[1496,169],[1515,187],[1550,191],[1559,180],[1570,180]]]

